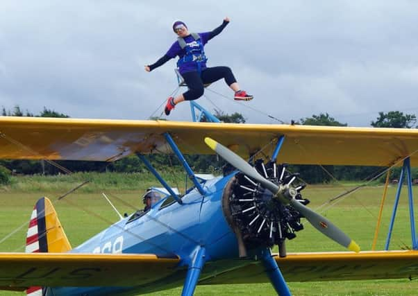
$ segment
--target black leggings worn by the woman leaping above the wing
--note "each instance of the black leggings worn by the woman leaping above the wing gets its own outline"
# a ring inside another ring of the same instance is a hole
[[[234,74],[229,67],[211,67],[202,70],[201,76],[197,71],[186,72],[182,74],[189,90],[183,94],[185,101],[192,101],[203,95],[204,87],[208,83],[215,82],[221,78],[225,79],[228,86],[235,80]]]

